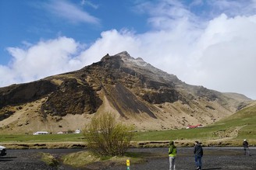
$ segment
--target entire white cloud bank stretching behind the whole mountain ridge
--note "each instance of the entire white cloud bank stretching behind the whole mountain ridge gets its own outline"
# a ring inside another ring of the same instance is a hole
[[[147,9],[145,11],[155,8],[149,18],[153,29],[147,33],[107,30],[86,50],[66,37],[40,41],[28,48],[9,48],[13,60],[8,67],[0,67],[2,78],[8,74],[1,85],[80,69],[100,61],[105,54],[126,50],[132,57],[142,57],[189,84],[204,85],[220,92],[239,92],[256,99],[256,79],[253,77],[256,72],[256,15],[247,12],[244,16],[230,17],[219,13],[205,21],[190,15],[191,12],[179,2],[162,2],[167,4],[140,5],[140,12],[143,8]],[[197,1],[194,6],[201,3]],[[170,16],[173,10],[179,14]],[[247,11],[252,12],[253,8]]]

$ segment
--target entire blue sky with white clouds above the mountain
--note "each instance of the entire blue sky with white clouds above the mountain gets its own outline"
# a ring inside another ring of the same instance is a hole
[[[2,0],[0,87],[126,50],[183,82],[256,99],[256,1]]]

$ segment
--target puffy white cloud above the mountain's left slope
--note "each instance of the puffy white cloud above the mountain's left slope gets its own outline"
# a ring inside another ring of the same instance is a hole
[[[9,47],[7,50],[13,58],[8,67],[0,68],[0,76],[6,77],[1,84],[30,82],[82,67],[76,59],[80,47],[83,47],[80,43],[65,36],[40,41],[28,48]]]

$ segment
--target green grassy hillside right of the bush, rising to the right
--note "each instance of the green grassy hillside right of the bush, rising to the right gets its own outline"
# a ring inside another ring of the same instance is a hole
[[[242,140],[256,137],[256,103],[210,126],[197,129],[140,132],[136,141]]]

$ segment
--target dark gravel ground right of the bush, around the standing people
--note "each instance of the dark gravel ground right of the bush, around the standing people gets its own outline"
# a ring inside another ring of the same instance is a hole
[[[204,147],[202,168],[204,170],[256,170],[256,147],[251,148],[251,157],[244,155],[242,147]],[[193,148],[178,147],[176,158],[176,170],[194,170]],[[135,149],[137,151],[137,149]],[[167,153],[168,148],[141,148],[140,151],[153,153]],[[126,166],[105,168],[106,170],[126,169]],[[169,158],[149,158],[147,162],[140,165],[133,165],[130,162],[130,170],[168,170]]]

